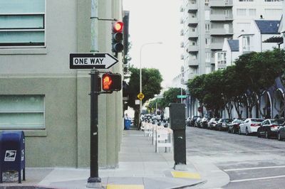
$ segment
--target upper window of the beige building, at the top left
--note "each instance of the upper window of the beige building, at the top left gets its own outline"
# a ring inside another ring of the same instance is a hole
[[[45,45],[45,0],[0,1],[0,46]]]

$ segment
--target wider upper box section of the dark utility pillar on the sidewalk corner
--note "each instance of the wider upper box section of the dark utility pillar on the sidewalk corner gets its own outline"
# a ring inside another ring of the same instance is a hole
[[[185,124],[185,104],[170,103],[170,128],[186,129]]]

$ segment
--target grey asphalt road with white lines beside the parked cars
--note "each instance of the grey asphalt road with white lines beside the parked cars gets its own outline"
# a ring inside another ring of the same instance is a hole
[[[207,158],[230,178],[225,189],[285,188],[285,141],[187,127],[187,156]]]

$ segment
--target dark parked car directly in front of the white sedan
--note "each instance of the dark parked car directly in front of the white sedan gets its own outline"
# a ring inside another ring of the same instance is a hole
[[[277,131],[284,121],[285,119],[265,119],[257,129],[257,136],[265,136],[266,139],[277,137]]]

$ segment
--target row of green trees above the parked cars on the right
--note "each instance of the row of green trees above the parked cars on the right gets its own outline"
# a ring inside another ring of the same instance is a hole
[[[217,70],[207,75],[199,75],[187,83],[191,97],[199,100],[200,107],[215,112],[227,109],[231,117],[232,109],[242,117],[242,108],[249,109],[252,117],[254,106],[261,112],[260,102],[264,91],[274,86],[276,77],[284,75],[284,50],[252,52],[239,56],[234,65],[225,70]]]

